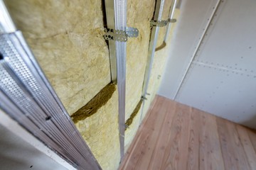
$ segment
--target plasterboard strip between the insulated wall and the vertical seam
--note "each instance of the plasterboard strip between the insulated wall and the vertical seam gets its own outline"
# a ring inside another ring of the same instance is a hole
[[[217,0],[184,0],[180,17],[171,40],[169,60],[163,75],[159,94],[173,99],[193,51],[203,34],[208,18],[213,13]]]

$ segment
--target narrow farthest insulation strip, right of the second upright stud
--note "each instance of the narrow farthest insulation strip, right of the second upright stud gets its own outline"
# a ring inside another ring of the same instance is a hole
[[[180,11],[178,8],[176,8],[174,11],[174,18],[177,18],[177,22],[178,22],[179,15],[180,15]],[[151,102],[153,101],[154,97],[156,96],[156,92],[159,89],[159,85],[161,83],[161,75],[164,73],[164,68],[166,67],[166,60],[167,60],[167,57],[170,55],[171,43],[175,43],[175,42],[172,42],[171,39],[174,35],[174,29],[176,27],[176,23],[171,24],[171,30],[169,32],[169,36],[166,41],[166,47],[155,52],[154,61],[153,61],[152,69],[151,69],[151,75],[149,78],[149,86],[148,86],[148,90],[147,90],[147,92],[151,95],[147,96],[148,100],[145,101],[143,118],[146,115],[146,112],[148,111],[149,106],[150,106]],[[164,40],[164,38],[163,38],[163,40]]]

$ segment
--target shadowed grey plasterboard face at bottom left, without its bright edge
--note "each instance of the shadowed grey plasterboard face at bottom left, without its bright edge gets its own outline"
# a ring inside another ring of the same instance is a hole
[[[0,169],[66,169],[1,124],[0,153]]]

